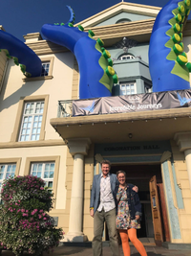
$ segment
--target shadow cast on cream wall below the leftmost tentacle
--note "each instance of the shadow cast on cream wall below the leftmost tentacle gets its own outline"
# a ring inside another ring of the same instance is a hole
[[[8,83],[8,78],[9,74],[11,71],[11,67],[13,66],[13,62],[8,66],[7,71],[6,71],[6,77],[4,80],[4,86],[2,88],[1,94],[0,94],[0,111],[9,108],[11,105],[15,105],[20,101],[20,97],[25,97],[25,96],[30,96],[32,95],[33,92],[38,90],[44,83],[43,81],[30,81],[23,83],[22,86],[14,91],[9,97],[4,99],[7,83]],[[18,68],[18,72],[21,72]],[[13,85],[13,82],[12,82]],[[12,90],[13,91],[13,88]]]

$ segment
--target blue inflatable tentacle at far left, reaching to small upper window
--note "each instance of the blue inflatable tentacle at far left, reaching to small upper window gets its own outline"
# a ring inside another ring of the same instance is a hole
[[[13,58],[16,65],[20,63],[21,71],[26,77],[41,75],[41,59],[24,42],[2,30],[0,30],[0,50],[4,51],[8,58]]]

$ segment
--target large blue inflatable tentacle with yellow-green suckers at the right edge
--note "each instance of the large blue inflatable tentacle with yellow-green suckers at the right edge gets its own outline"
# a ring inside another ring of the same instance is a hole
[[[170,0],[156,18],[149,46],[154,92],[190,88],[191,63],[182,43],[182,30],[190,9],[190,0]]]

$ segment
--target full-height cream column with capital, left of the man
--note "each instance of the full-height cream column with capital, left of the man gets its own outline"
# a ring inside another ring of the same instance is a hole
[[[87,237],[83,234],[83,194],[84,194],[84,155],[90,146],[90,139],[69,140],[69,150],[74,155],[73,184],[71,195],[71,208],[69,232],[64,238],[65,242],[84,242]]]

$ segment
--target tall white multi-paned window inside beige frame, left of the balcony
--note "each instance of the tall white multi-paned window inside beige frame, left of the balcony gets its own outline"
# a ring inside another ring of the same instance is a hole
[[[19,141],[36,141],[40,138],[44,101],[25,103]]]

